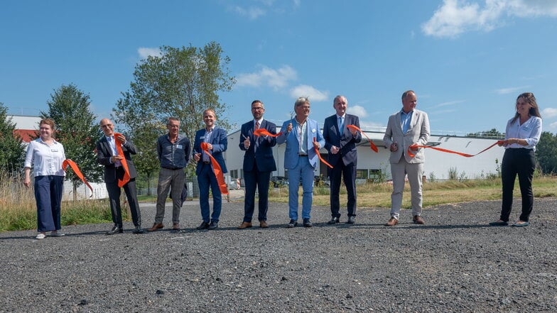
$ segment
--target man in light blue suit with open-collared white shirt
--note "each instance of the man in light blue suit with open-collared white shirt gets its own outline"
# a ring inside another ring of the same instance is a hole
[[[313,173],[317,166],[318,155],[314,148],[325,145],[325,139],[319,130],[317,121],[308,119],[310,101],[306,97],[296,99],[294,103],[296,117],[284,121],[281,136],[276,143],[286,142],[284,168],[288,170],[288,228],[298,224],[298,189],[302,182],[302,219],[303,226],[311,227],[310,213],[313,202]]]

